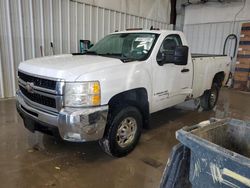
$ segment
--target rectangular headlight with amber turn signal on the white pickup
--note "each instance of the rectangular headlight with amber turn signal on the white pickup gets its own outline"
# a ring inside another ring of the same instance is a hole
[[[66,82],[64,106],[84,107],[101,104],[99,82]]]

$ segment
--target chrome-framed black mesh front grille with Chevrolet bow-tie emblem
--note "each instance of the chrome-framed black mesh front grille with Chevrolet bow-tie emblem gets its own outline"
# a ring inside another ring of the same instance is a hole
[[[41,110],[59,112],[63,106],[63,87],[61,80],[41,78],[18,71],[19,89],[25,102]]]

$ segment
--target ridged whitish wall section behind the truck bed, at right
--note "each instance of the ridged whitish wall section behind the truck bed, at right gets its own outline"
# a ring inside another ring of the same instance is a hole
[[[184,25],[184,33],[192,53],[222,54],[227,36],[234,33],[240,39],[241,24],[249,21],[215,22]],[[233,54],[234,41],[226,45],[227,54]]]

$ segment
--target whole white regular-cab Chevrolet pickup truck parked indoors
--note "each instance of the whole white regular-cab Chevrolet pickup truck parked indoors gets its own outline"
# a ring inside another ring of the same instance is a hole
[[[229,65],[227,56],[191,55],[182,32],[116,32],[83,54],[20,63],[17,110],[33,132],[98,140],[121,157],[134,149],[151,113],[195,98],[212,109]]]

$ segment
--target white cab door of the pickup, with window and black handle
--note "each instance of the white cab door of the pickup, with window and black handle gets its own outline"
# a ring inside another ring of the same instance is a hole
[[[184,62],[176,65],[173,62],[157,62],[162,54],[173,54],[177,46],[182,46],[178,34],[168,35],[162,42],[155,58],[153,68],[153,111],[184,102],[192,93],[192,64]]]

